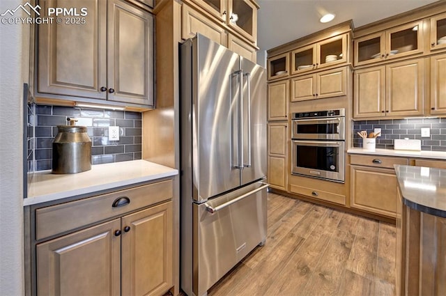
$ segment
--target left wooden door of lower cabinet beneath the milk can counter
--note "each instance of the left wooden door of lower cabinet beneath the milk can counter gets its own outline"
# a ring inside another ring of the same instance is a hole
[[[38,295],[121,295],[120,221],[38,244]]]

